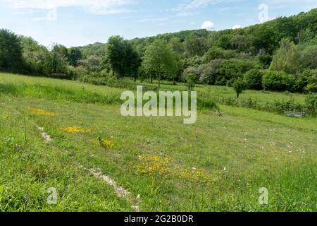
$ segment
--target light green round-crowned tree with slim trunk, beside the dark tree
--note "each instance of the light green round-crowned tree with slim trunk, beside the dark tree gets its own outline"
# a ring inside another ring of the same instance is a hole
[[[144,53],[143,67],[148,73],[156,73],[161,88],[163,73],[175,73],[176,55],[166,40],[155,40]]]

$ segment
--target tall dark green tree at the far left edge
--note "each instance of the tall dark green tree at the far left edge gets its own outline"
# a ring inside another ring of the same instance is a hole
[[[23,67],[20,37],[9,30],[0,30],[0,68],[18,71]]]

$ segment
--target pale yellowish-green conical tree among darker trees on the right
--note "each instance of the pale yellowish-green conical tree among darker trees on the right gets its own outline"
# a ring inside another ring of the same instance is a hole
[[[280,49],[273,57],[270,69],[273,71],[284,71],[285,73],[296,74],[300,68],[299,54],[294,42],[288,39],[280,41]]]

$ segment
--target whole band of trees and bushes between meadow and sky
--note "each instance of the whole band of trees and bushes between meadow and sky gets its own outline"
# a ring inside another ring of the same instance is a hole
[[[0,69],[106,85],[120,78],[317,92],[317,9],[237,30],[182,31],[51,49],[0,30]]]

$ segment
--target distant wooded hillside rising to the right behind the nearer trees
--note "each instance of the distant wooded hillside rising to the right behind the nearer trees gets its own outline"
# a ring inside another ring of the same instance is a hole
[[[216,42],[218,42],[218,45],[223,49],[234,49],[233,47],[229,46],[230,43],[226,43],[230,42],[230,39],[234,35],[251,35],[254,37],[254,40],[252,40],[251,44],[254,45],[255,49],[258,51],[260,49],[265,49],[266,52],[272,53],[278,48],[278,43],[282,38],[288,37],[295,44],[299,44],[299,42],[306,41],[306,36],[309,35],[309,33],[313,34],[313,36],[317,33],[317,8],[314,8],[307,13],[299,13],[296,16],[290,17],[280,17],[263,24],[251,25],[247,28],[237,30],[185,30],[174,33],[166,33],[163,35],[156,35],[153,37],[135,38],[130,40],[130,42],[132,42],[132,44],[134,44],[138,49],[139,53],[142,54],[145,50],[145,47],[153,42],[156,38],[163,38],[168,42],[173,40],[174,44],[182,45],[179,51],[180,53],[184,54],[186,51],[186,47],[184,49],[186,41],[192,38],[199,40],[200,38],[201,42],[206,42],[206,46],[203,47],[200,53],[199,50],[197,53],[198,55],[203,55],[204,52],[206,52]],[[204,45],[201,43],[192,44]],[[82,51],[82,54],[88,57],[91,55],[101,56],[102,52],[104,51],[104,47],[104,43],[97,42],[79,48]],[[196,54],[195,50],[193,52]],[[189,53],[189,55],[191,54]]]

